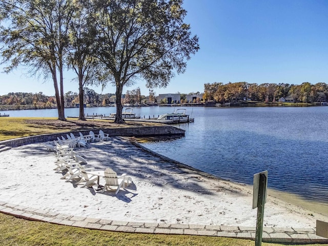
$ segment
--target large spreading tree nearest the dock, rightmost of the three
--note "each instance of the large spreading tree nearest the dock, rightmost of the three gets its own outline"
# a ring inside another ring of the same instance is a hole
[[[125,85],[143,78],[149,88],[165,87],[198,51],[198,37],[183,22],[182,0],[95,0],[96,46],[93,55],[103,62],[116,86],[116,123],[122,118]]]

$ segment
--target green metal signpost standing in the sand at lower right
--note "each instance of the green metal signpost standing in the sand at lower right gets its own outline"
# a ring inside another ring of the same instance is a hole
[[[260,174],[258,199],[257,199],[255,246],[261,246],[262,244],[265,191],[267,190],[266,186],[267,186],[267,177],[262,173]]]

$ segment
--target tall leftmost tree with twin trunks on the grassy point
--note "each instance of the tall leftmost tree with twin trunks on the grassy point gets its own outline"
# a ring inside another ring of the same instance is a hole
[[[63,70],[73,10],[71,0],[0,1],[1,53],[4,62],[9,63],[5,71],[26,65],[32,74],[50,75],[60,120],[66,120]]]

